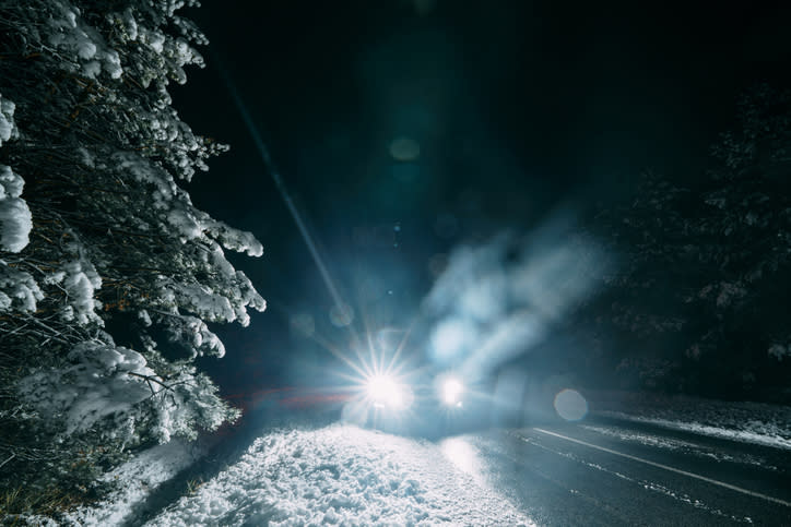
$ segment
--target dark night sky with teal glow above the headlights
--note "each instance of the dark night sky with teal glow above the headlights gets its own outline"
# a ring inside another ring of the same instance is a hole
[[[265,248],[236,260],[270,309],[221,331],[228,357],[211,369],[226,391],[298,383],[321,362],[294,321],[312,319],[341,346],[349,333],[330,320],[332,299],[217,62],[357,328],[362,318],[404,327],[460,241],[529,231],[558,206],[582,214],[628,192],[641,168],[696,178],[737,94],[788,85],[783,2],[572,3],[205,0],[186,13],[212,51],[175,106],[232,145],[190,187],[193,201]]]

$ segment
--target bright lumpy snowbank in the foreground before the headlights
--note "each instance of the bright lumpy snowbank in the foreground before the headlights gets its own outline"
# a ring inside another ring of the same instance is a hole
[[[146,525],[534,525],[475,458],[350,424],[274,431]]]

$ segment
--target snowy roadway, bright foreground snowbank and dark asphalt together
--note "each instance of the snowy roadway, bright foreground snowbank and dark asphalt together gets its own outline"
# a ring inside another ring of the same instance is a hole
[[[788,450],[615,420],[271,431],[146,525],[791,525]]]

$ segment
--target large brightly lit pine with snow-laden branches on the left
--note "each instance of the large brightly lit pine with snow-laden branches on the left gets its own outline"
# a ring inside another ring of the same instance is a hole
[[[84,482],[237,416],[193,359],[225,352],[208,323],[264,309],[224,254],[262,248],[182,188],[226,149],[170,106],[206,44],[185,3],[0,2],[0,464],[17,483]]]

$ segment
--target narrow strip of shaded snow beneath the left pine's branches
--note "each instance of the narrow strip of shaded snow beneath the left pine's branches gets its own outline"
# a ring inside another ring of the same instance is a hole
[[[107,526],[129,522],[137,504],[204,454],[205,448],[178,439],[143,451],[103,477],[120,483],[111,495],[94,506],[68,513],[61,525]]]

